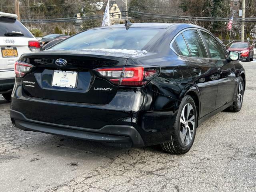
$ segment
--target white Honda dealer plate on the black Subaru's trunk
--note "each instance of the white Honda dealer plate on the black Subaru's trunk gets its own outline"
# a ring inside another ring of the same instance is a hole
[[[76,88],[78,72],[54,70],[52,86]]]

